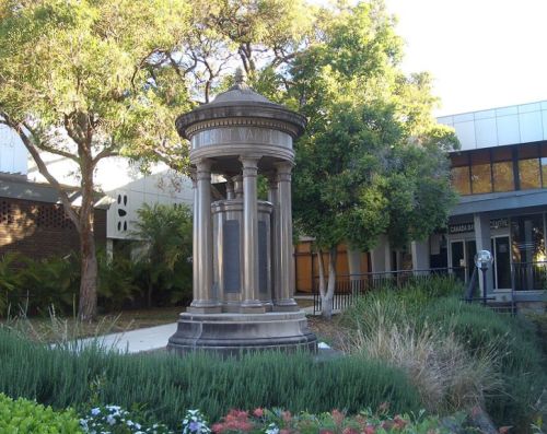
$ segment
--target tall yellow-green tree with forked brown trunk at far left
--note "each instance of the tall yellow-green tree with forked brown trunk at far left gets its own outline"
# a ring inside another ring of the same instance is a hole
[[[113,155],[187,163],[173,125],[190,107],[188,89],[170,55],[186,37],[188,17],[183,0],[0,1],[0,122],[21,137],[78,230],[83,320],[96,310],[97,164]],[[73,162],[78,208],[42,151]]]

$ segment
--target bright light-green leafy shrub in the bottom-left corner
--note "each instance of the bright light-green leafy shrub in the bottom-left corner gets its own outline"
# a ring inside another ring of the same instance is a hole
[[[0,432],[18,434],[81,433],[72,410],[54,411],[27,399],[13,400],[0,394]]]

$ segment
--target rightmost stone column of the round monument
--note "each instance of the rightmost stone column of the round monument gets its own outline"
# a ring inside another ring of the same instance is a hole
[[[291,171],[292,163],[276,164],[279,190],[279,270],[280,296],[276,300],[275,310],[298,310],[293,298],[294,259],[292,246],[292,209],[291,209]]]

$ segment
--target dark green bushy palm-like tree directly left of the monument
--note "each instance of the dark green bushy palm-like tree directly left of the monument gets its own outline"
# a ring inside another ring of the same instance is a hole
[[[191,211],[184,204],[144,204],[137,211],[133,235],[141,239],[137,260],[147,279],[147,303],[155,292],[171,292],[168,302],[191,293]],[[178,290],[178,293],[173,293]],[[160,294],[156,294],[160,295]]]

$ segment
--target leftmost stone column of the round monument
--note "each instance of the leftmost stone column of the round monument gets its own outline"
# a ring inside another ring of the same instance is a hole
[[[212,294],[211,162],[196,164],[194,189],[194,301],[189,312],[220,313]]]

